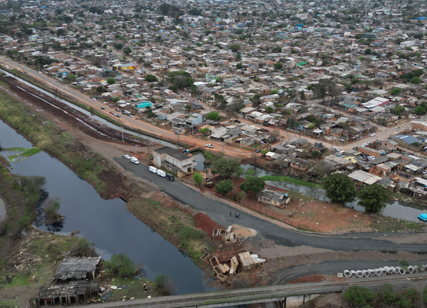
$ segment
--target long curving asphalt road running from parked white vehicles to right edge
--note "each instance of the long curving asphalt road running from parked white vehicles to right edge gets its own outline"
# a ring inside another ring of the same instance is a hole
[[[134,175],[151,181],[174,197],[176,200],[184,202],[196,210],[206,212],[212,220],[218,224],[227,227],[228,225],[238,224],[256,230],[262,237],[273,240],[277,245],[287,247],[296,247],[307,245],[311,247],[324,248],[328,250],[380,250],[380,251],[407,251],[407,252],[427,252],[427,245],[418,244],[396,244],[388,240],[374,240],[369,238],[348,238],[328,235],[310,235],[306,232],[298,232],[283,229],[271,222],[254,217],[246,212],[239,213],[241,217],[236,219],[234,213],[236,209],[223,202],[211,200],[204,197],[195,190],[187,187],[178,180],[171,182],[166,178],[149,172],[146,165],[134,165],[126,158],[115,158],[116,162],[122,165],[126,170],[130,170]],[[230,217],[230,212],[233,215]]]

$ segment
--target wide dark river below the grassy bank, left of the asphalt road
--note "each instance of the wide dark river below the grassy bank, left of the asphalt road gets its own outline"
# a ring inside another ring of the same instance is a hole
[[[31,148],[31,143],[1,121],[0,143],[4,148]],[[49,197],[61,198],[59,212],[65,220],[57,225],[42,225],[41,230],[81,230],[102,257],[109,259],[112,254],[124,252],[137,264],[145,265],[149,278],[158,274],[171,277],[177,287],[175,294],[216,290],[204,284],[200,268],[189,257],[126,210],[126,202],[101,199],[89,183],[56,158],[40,152],[11,165],[15,174],[43,176]]]

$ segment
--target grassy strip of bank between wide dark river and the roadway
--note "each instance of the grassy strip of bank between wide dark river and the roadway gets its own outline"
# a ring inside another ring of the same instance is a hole
[[[171,200],[161,203],[159,190],[124,175],[116,165],[74,139],[71,132],[67,133],[56,127],[4,91],[0,91],[0,100],[0,118],[31,140],[37,148],[58,158],[87,180],[104,199],[121,197],[128,200],[128,208],[136,217],[153,230],[159,231],[196,264],[202,265],[199,258],[203,248],[214,250],[221,245],[211,242],[211,237],[196,227],[198,221],[193,217],[198,212],[179,204],[170,207]],[[147,214],[147,211],[150,213]],[[214,224],[209,217],[204,217],[204,220]]]

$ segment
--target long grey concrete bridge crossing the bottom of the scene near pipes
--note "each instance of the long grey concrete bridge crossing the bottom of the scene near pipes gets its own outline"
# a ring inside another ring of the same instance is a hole
[[[169,297],[154,297],[151,299],[134,299],[124,302],[109,302],[91,304],[88,308],[214,308],[238,304],[255,304],[279,302],[281,307],[290,308],[310,301],[322,294],[341,292],[345,287],[368,284],[384,284],[402,281],[419,281],[427,279],[427,274],[411,274],[401,276],[381,276],[361,279],[351,279],[350,282],[308,282],[301,284],[285,284],[269,287],[234,289],[221,292],[174,295]],[[83,306],[86,307],[86,306]]]

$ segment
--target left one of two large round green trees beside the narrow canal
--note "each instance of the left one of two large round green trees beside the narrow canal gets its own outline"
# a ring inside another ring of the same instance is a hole
[[[353,181],[342,173],[332,173],[322,180],[326,197],[332,202],[350,202],[356,197]]]

